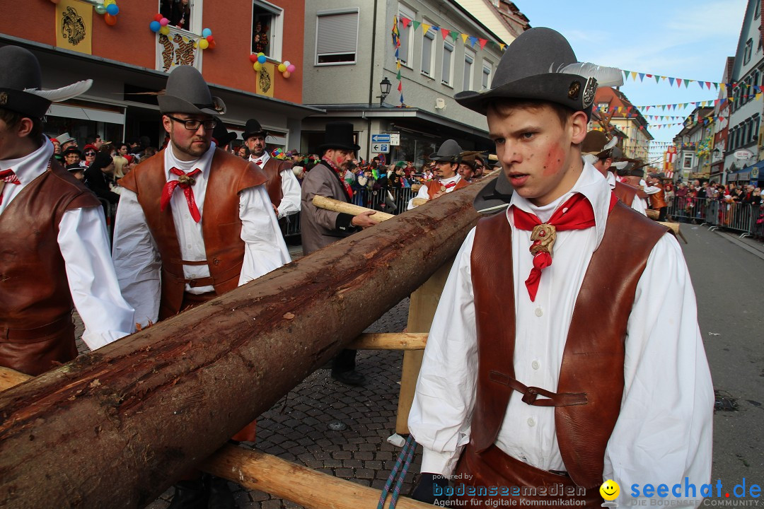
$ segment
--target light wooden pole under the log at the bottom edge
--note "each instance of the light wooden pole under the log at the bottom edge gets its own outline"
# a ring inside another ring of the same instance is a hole
[[[316,472],[270,454],[224,446],[202,466],[206,472],[247,489],[286,498],[307,509],[373,509],[381,491]],[[384,507],[390,507],[390,497]],[[432,505],[400,497],[400,509],[432,509]]]

